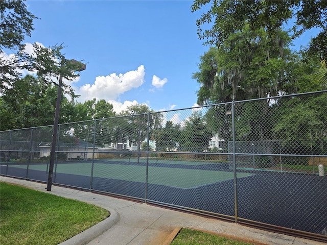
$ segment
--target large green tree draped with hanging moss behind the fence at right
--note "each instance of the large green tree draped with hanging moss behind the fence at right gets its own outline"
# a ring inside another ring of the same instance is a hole
[[[230,34],[219,47],[211,47],[201,56],[200,71],[193,75],[201,85],[198,104],[321,90],[323,83],[315,78],[319,57],[291,52],[287,33],[279,30],[275,35],[279,41],[271,42],[265,30],[250,31],[245,26],[242,32]],[[267,120],[274,112],[269,100],[236,106],[239,140],[273,136],[275,121]],[[214,106],[205,115],[209,127],[224,139],[230,139],[227,111],[228,106]]]

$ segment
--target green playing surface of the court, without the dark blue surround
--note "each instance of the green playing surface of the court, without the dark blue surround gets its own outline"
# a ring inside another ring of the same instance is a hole
[[[26,165],[11,165],[11,167],[26,168]],[[46,164],[31,164],[29,169],[46,171],[46,167]],[[92,163],[90,162],[64,163],[55,166],[55,171],[58,174],[90,176],[91,167]],[[248,176],[252,176],[252,174],[237,173],[238,178]],[[94,163],[93,177],[145,183],[146,166]],[[159,166],[149,166],[148,168],[149,184],[174,186],[179,188],[192,188],[231,179],[233,179],[233,173],[229,171]]]

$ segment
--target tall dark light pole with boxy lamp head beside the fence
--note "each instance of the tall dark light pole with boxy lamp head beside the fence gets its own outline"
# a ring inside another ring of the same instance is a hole
[[[63,68],[65,61],[67,61],[67,60],[65,60],[65,58],[62,57],[61,66],[60,66],[61,69]],[[80,64],[80,67],[78,69],[76,69],[76,71],[82,71],[82,70],[86,69],[86,64],[83,64],[77,60],[70,60],[68,62],[70,62],[72,64]],[[59,123],[59,109],[60,109],[60,102],[61,102],[61,87],[62,87],[62,71],[60,71],[60,74],[59,74],[57,104],[56,104],[56,112],[55,112],[55,121],[54,121],[54,126],[53,126],[51,152],[50,152],[48,186],[46,187],[47,191],[51,191],[51,187],[52,187],[52,176],[53,176],[53,167],[54,167],[54,163],[55,163],[57,131],[58,131],[58,123]]]

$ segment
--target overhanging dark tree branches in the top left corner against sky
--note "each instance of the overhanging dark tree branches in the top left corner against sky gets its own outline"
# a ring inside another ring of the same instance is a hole
[[[37,77],[43,79],[43,83],[57,84],[59,74],[68,81],[72,81],[79,74],[75,74],[79,64],[73,64],[64,59],[62,45],[43,47],[39,43],[33,44],[32,54],[27,53],[24,37],[31,36],[33,20],[37,19],[27,11],[23,1],[7,0],[2,1],[0,6],[0,92],[6,93],[17,79],[21,78],[22,70],[35,72]],[[15,52],[7,56],[5,48]],[[63,88],[75,97],[73,89],[63,84]]]

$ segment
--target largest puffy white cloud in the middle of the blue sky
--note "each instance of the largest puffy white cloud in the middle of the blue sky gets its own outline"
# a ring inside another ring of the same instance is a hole
[[[85,84],[77,89],[76,93],[81,95],[79,100],[82,101],[93,98],[106,101],[116,100],[120,94],[141,86],[144,83],[144,77],[145,69],[143,65],[140,65],[137,70],[131,70],[125,74],[113,73],[106,77],[96,77],[94,84]]]

